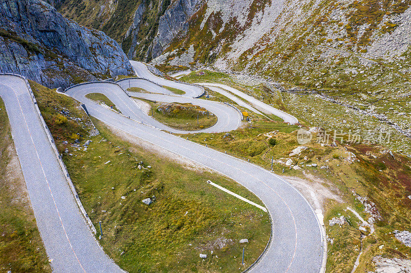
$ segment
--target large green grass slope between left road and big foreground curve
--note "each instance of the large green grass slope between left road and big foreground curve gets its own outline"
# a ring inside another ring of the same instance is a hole
[[[239,272],[261,254],[270,236],[268,215],[206,181],[261,204],[246,188],[159,158],[94,121],[101,135],[91,138],[87,152],[73,150],[63,159],[90,219],[102,222],[101,245],[123,269]],[[139,170],[139,164],[152,168]],[[141,202],[152,196],[156,201],[150,206]],[[243,238],[250,243],[240,245]],[[228,243],[220,248],[219,242]],[[200,253],[208,258],[203,261]]]

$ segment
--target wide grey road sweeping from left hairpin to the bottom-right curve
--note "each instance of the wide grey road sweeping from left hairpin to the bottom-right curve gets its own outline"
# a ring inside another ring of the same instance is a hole
[[[153,78],[150,80],[154,81]],[[80,99],[91,116],[113,128],[226,175],[246,186],[264,202],[272,219],[273,235],[265,255],[252,268],[253,271],[319,272],[324,268],[322,227],[307,200],[287,181],[259,166],[160,131],[144,122],[142,124],[139,119],[134,120],[119,115],[91,100],[84,99],[82,90],[94,85],[96,89],[93,92],[98,92],[100,89],[101,93],[109,98],[114,98],[115,93],[118,93],[113,88],[102,89],[99,83],[80,85],[68,89],[66,93]],[[180,89],[185,91],[184,86],[180,86]],[[76,93],[82,95],[78,97]],[[127,99],[130,100],[124,96],[124,101],[119,104],[113,101],[123,113],[129,111],[128,103],[124,103]]]

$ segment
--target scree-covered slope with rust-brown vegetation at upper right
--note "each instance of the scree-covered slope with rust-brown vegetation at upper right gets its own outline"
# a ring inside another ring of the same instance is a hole
[[[183,57],[305,88],[405,96],[410,6],[410,0],[208,0],[153,62],[173,67]]]

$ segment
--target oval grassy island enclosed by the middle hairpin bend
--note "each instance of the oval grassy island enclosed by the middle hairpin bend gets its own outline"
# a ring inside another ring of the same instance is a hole
[[[195,131],[210,128],[217,122],[217,117],[213,113],[191,103],[144,101],[152,107],[149,115],[153,113],[153,118],[174,129]]]

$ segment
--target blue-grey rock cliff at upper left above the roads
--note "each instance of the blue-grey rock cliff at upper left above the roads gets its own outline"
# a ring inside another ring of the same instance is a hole
[[[0,72],[48,87],[133,72],[118,43],[40,0],[1,0]]]

